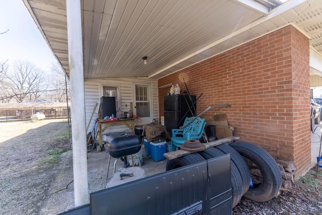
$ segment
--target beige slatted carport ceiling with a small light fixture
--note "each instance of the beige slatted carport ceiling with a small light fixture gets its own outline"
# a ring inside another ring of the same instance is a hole
[[[23,1],[68,75],[66,1]],[[85,78],[160,78],[290,24],[322,54],[320,0],[265,2],[83,0]]]

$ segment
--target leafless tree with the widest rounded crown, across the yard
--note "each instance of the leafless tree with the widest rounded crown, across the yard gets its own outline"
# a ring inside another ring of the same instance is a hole
[[[6,74],[10,85],[11,95],[18,103],[21,103],[29,96],[39,97],[45,90],[45,78],[43,71],[36,68],[28,61],[16,61],[13,71]]]

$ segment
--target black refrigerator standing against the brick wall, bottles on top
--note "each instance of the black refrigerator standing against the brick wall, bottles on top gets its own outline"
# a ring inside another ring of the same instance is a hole
[[[194,117],[195,110],[197,110],[196,96],[191,95],[192,101],[189,98],[189,95],[167,95],[164,100],[165,108],[165,126],[167,131],[171,134],[172,129],[178,129],[183,125],[186,117]],[[189,107],[194,104],[195,109]],[[193,114],[192,114],[192,113]]]

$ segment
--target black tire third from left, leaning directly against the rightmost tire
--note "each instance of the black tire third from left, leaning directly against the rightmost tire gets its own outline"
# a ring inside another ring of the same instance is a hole
[[[243,195],[244,195],[248,191],[251,183],[251,173],[247,166],[247,163],[236,150],[234,150],[231,146],[227,144],[221,144],[219,146],[216,146],[215,148],[219,149],[221,152],[225,154],[230,153],[230,159],[236,165],[240,173],[241,180],[243,181]]]

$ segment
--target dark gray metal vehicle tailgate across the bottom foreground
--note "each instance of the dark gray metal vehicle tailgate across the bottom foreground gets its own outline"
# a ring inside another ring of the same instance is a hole
[[[231,214],[230,181],[224,155],[91,193],[91,214],[176,214],[198,202],[196,214]]]

